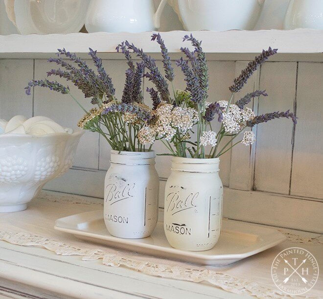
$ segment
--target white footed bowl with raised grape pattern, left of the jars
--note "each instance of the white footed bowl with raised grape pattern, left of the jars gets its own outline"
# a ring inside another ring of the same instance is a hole
[[[0,213],[26,209],[48,181],[66,173],[82,134],[0,134]]]

